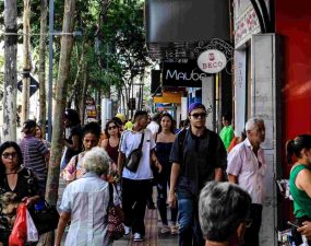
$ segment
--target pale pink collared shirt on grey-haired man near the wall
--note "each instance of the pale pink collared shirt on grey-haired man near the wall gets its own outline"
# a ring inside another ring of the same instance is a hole
[[[238,185],[250,194],[252,203],[263,203],[265,172],[264,151],[260,148],[256,156],[249,139],[236,145],[228,154],[227,174],[238,177]]]

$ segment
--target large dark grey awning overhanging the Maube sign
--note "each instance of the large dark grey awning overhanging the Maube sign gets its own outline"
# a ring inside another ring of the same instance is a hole
[[[224,0],[146,0],[146,43],[153,59],[195,58],[200,42],[230,40]]]

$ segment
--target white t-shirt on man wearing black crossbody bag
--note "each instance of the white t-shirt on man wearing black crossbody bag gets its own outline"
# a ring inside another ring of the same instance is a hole
[[[143,155],[140,161],[140,165],[136,173],[129,171],[127,167],[123,168],[122,177],[133,179],[133,180],[143,180],[152,179],[153,172],[151,168],[151,150],[155,148],[155,141],[149,129],[144,129],[144,142],[142,147]],[[134,132],[131,130],[123,131],[120,140],[121,151],[128,157],[132,150],[137,149],[141,143],[142,131]]]

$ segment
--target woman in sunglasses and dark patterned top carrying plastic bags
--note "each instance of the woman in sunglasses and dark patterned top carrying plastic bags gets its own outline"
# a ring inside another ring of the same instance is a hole
[[[7,141],[0,147],[0,245],[9,244],[16,208],[24,201],[34,211],[41,191],[34,173],[22,166],[23,155],[17,143]],[[1,244],[2,243],[2,244]]]

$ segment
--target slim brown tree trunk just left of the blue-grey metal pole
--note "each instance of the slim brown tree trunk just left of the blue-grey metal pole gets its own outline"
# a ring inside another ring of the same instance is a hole
[[[39,44],[39,125],[43,129],[43,134],[46,132],[47,118],[47,98],[46,98],[46,32],[47,32],[47,0],[41,0],[41,20],[40,20],[40,44]]]

